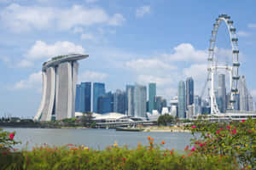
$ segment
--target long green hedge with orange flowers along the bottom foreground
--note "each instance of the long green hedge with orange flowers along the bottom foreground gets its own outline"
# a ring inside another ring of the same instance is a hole
[[[73,144],[62,147],[49,147],[44,144],[41,147],[33,148],[32,151],[21,151],[22,156],[15,157],[10,154],[9,159],[12,159],[13,162],[5,169],[207,170],[238,169],[239,167],[236,159],[232,156],[201,156],[199,153],[191,152],[188,146],[180,155],[175,150],[162,150],[165,143],[162,141],[161,144],[154,144],[154,139],[148,137],[148,145],[138,144],[137,149],[133,150],[128,150],[127,147],[118,147],[118,144],[108,146],[105,150],[91,150],[83,145]],[[1,161],[2,158],[3,156],[0,156]]]

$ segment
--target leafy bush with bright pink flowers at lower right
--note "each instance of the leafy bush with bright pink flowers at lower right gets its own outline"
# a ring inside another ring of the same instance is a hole
[[[235,156],[241,167],[256,167],[256,120],[196,122],[190,129],[193,150],[201,156]]]

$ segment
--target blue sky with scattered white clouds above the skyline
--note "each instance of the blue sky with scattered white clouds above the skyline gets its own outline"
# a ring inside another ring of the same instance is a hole
[[[107,91],[156,82],[172,99],[177,84],[207,79],[207,48],[219,14],[234,20],[240,75],[256,99],[256,2],[251,0],[0,0],[0,116],[35,116],[42,98],[42,64],[60,54],[79,60],[79,82],[105,82]],[[230,62],[221,25],[216,59]]]

